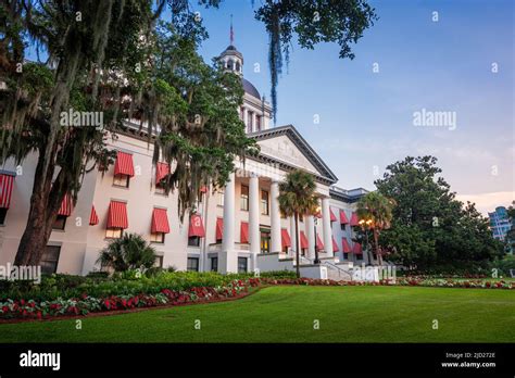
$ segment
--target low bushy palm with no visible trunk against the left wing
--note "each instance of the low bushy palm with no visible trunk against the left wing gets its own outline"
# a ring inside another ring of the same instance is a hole
[[[137,234],[126,234],[112,240],[100,251],[97,264],[112,268],[114,272],[126,272],[145,267],[151,268],[155,263],[155,250]]]

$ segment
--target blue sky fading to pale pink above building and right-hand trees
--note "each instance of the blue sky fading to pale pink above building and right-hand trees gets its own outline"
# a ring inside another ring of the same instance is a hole
[[[343,188],[374,189],[389,163],[432,154],[463,200],[483,212],[507,205],[515,187],[512,1],[370,4],[380,18],[354,46],[353,61],[338,59],[337,45],[294,46],[279,81],[277,126],[293,124]],[[227,47],[234,14],[244,76],[269,99],[268,38],[251,1],[225,0],[219,10],[199,11],[210,33],[201,48],[206,60]],[[456,128],[415,127],[413,113],[422,109],[455,112]]]

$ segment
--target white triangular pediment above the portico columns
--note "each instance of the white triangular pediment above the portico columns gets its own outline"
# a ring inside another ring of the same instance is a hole
[[[263,159],[277,161],[292,168],[305,169],[332,184],[338,180],[292,125],[252,133],[249,137],[256,140]]]

